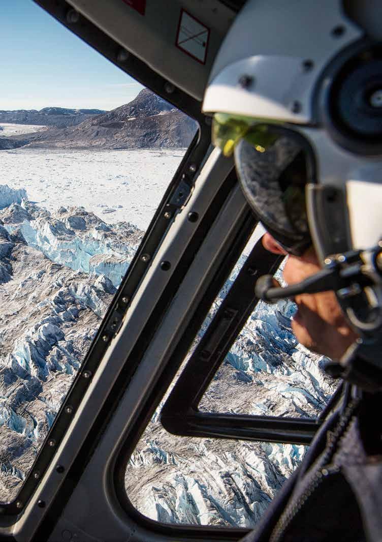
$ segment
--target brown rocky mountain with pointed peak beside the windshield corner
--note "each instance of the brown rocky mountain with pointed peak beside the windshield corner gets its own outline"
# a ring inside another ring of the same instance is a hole
[[[144,89],[129,104],[87,119],[79,125],[64,129],[50,128],[31,134],[28,147],[178,149],[189,146],[196,130],[195,120]]]

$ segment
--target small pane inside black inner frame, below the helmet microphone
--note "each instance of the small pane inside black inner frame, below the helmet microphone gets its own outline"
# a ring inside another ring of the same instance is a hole
[[[336,385],[323,372],[327,358],[297,343],[291,329],[294,312],[288,300],[258,303],[202,397],[200,411],[320,414]]]

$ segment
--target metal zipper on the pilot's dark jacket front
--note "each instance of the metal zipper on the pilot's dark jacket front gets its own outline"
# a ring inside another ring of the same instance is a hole
[[[333,433],[329,436],[325,452],[320,459],[321,467],[316,472],[305,491],[299,496],[298,499],[296,499],[296,502],[294,502],[292,506],[287,506],[286,511],[281,514],[281,517],[279,521],[277,521],[277,524],[271,534],[269,542],[281,542],[290,523],[294,520],[301,509],[305,507],[307,501],[314,494],[322,481],[327,479],[328,476],[339,472],[339,467],[330,465],[329,463],[333,459],[333,455],[337,449],[337,444],[340,438],[344,435],[355,415],[359,402],[359,398],[354,399],[348,404],[344,413],[341,414]]]

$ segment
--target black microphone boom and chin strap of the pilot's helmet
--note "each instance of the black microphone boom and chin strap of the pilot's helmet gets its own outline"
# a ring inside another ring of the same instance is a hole
[[[348,251],[325,260],[325,267],[287,287],[271,275],[256,282],[259,299],[276,302],[300,294],[334,291],[352,328],[360,335],[326,372],[368,392],[382,390],[382,242],[369,250]],[[363,318],[363,315],[365,317]]]

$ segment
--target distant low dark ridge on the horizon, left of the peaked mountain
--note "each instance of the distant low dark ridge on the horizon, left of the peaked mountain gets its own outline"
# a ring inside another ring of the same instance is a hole
[[[103,109],[66,109],[63,107],[44,107],[40,111],[18,109],[17,111],[0,111],[0,122],[66,128],[80,124],[80,122],[101,113],[105,113],[105,111]]]

